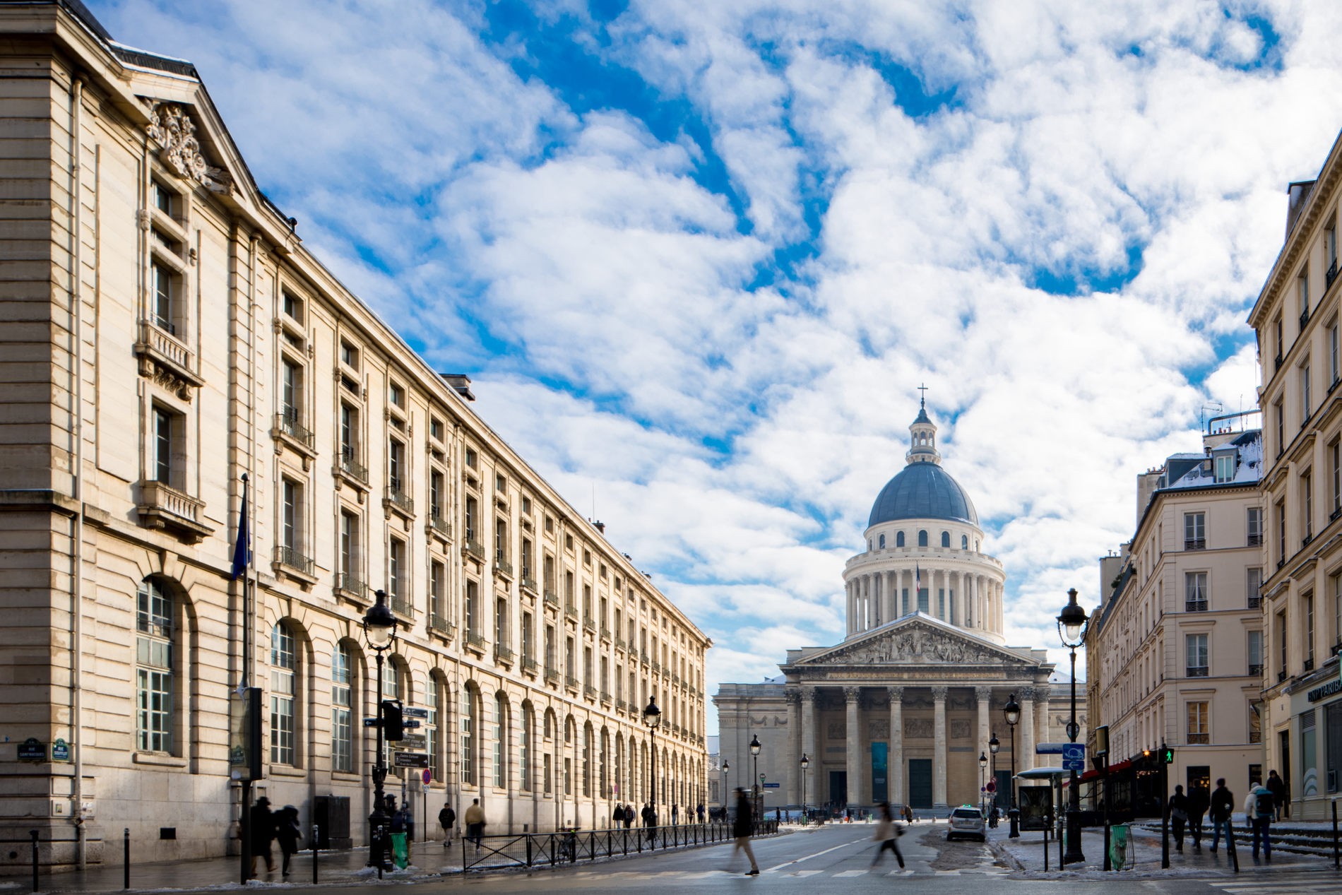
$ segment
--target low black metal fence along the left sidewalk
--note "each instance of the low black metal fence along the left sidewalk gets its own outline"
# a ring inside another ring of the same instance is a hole
[[[756,824],[757,836],[778,832],[778,823]],[[561,867],[597,859],[637,855],[668,848],[694,848],[731,841],[730,824],[676,827],[620,827],[616,829],[560,829],[553,833],[462,837],[462,868]]]

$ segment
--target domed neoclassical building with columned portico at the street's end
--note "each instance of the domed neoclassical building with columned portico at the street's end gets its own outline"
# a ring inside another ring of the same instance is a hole
[[[907,466],[872,506],[867,550],[844,569],[848,636],[789,649],[780,678],[722,684],[713,698],[722,757],[737,785],[766,778],[765,808],[978,804],[978,757],[993,734],[1005,793],[1012,731],[1002,707],[1013,694],[1017,770],[1049,764],[1036,746],[1066,738],[1068,690],[1049,682],[1045,651],[1004,645],[1002,566],[982,553],[973,502],[941,468],[925,407],[910,435]]]

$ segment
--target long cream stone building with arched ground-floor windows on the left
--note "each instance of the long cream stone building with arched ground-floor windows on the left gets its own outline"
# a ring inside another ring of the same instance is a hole
[[[388,782],[416,816],[703,800],[709,639],[305,250],[191,63],[78,3],[4,3],[0,28],[0,868],[34,828],[54,867],[119,861],[122,828],[136,861],[231,849],[243,682],[256,794],[305,829],[348,797],[364,841],[373,589],[400,621],[384,694],[425,715],[431,790]]]

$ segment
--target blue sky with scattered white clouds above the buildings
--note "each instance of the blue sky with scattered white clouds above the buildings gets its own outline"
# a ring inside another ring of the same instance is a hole
[[[1134,475],[1253,405],[1286,184],[1342,125],[1326,0],[86,1],[197,64],[307,247],[714,639],[710,690],[841,637],[921,382],[1009,640],[1056,645]]]

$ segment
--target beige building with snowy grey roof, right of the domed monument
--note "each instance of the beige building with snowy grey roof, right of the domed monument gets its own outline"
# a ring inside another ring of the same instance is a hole
[[[1257,412],[1215,420],[1204,451],[1142,472],[1137,531],[1100,564],[1104,598],[1086,637],[1091,729],[1108,726],[1115,770],[1174,747],[1172,789],[1224,777],[1244,793],[1266,777],[1263,433],[1245,420]]]

